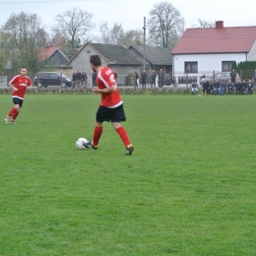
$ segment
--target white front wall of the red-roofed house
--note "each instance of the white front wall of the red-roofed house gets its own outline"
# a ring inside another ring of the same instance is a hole
[[[222,71],[223,61],[245,61],[245,53],[222,53],[222,54],[175,54],[173,55],[174,74],[184,74],[184,63],[189,61],[198,62],[198,74],[204,75],[215,71]],[[196,74],[195,74],[196,75]]]

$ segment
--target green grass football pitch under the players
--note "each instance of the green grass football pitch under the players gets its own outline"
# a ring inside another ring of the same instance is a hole
[[[256,255],[256,95],[122,97],[131,157],[75,148],[99,96],[0,96],[0,255]]]

